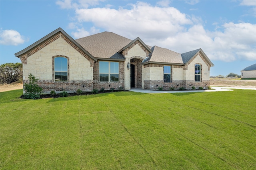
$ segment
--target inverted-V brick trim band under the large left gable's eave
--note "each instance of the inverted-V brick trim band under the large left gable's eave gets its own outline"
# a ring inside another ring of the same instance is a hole
[[[66,37],[61,32],[56,33],[55,35],[53,35],[52,37],[50,37],[49,39],[47,39],[46,41],[44,41],[40,45],[36,46],[34,49],[28,51],[28,53],[22,55],[22,57],[20,57],[20,60],[22,61],[22,64],[27,64],[27,59],[26,59],[27,57],[30,57],[34,53],[38,52],[42,48],[44,48],[47,45],[49,45],[50,43],[52,43],[53,41],[57,40],[58,38],[64,39],[70,46],[72,46],[76,51],[78,51],[78,53],[80,53],[88,61],[90,61],[90,66],[91,67],[94,66],[94,60],[92,58],[90,58],[88,55],[86,55],[86,53],[84,53],[84,51],[82,51],[82,49],[80,49],[78,46],[76,46],[68,37]]]

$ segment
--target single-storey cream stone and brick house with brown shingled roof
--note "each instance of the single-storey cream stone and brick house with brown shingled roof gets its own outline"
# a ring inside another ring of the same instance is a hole
[[[39,78],[44,93],[208,87],[214,66],[202,49],[180,54],[112,32],[74,40],[61,28],[15,56],[23,64],[23,83],[28,83],[31,73]]]

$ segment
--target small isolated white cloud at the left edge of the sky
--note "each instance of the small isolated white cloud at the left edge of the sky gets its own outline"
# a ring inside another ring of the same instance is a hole
[[[24,36],[12,29],[1,30],[0,42],[3,45],[19,45],[25,42]]]

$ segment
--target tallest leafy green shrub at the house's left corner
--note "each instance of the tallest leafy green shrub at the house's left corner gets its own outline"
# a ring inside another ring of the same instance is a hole
[[[28,84],[24,84],[24,90],[26,93],[23,95],[26,99],[36,99],[40,98],[40,94],[43,92],[43,89],[36,84],[39,78],[36,78],[34,75],[28,75]]]

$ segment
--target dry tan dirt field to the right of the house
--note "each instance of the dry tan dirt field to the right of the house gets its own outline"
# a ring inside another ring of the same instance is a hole
[[[210,79],[210,86],[223,86],[223,87],[256,87],[256,80],[232,80],[232,79]]]

